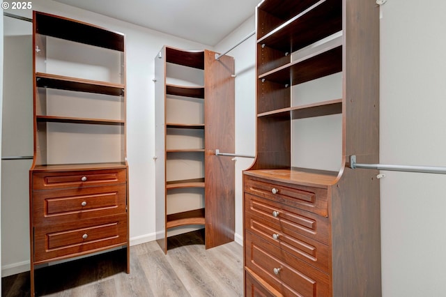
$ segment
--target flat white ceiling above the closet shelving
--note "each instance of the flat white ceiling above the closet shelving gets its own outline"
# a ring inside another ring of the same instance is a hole
[[[254,15],[261,0],[56,1],[214,46]]]

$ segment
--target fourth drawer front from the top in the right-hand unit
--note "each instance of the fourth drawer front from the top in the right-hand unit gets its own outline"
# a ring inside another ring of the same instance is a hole
[[[329,275],[245,232],[246,266],[284,296],[329,296]]]

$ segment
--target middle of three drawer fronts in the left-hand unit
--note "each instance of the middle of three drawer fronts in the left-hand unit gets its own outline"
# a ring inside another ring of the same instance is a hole
[[[59,224],[125,213],[126,185],[33,192],[33,224]]]

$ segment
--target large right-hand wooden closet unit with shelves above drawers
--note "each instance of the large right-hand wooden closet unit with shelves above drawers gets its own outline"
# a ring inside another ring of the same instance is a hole
[[[379,159],[379,8],[264,0],[256,35],[256,159],[243,174],[245,296],[380,296],[378,172],[347,166],[350,155]],[[305,83],[324,89],[321,79],[339,73],[341,98],[308,102],[296,91]],[[341,116],[339,170],[293,165],[296,121],[318,135],[316,121],[328,116]]]

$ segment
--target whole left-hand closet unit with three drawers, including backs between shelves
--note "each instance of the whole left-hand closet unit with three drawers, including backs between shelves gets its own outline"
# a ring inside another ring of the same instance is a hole
[[[121,33],[33,12],[31,296],[40,264],[127,248]]]

